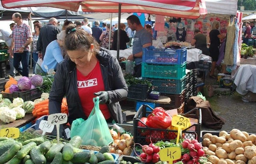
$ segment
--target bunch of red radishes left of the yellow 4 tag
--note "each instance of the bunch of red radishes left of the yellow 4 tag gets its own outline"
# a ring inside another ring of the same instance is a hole
[[[155,146],[153,143],[142,146],[142,153],[140,154],[140,160],[146,163],[156,163],[159,161],[160,147]]]

